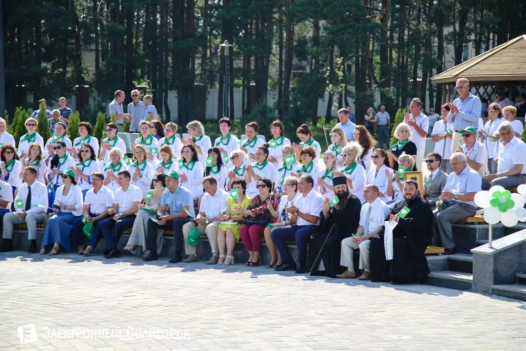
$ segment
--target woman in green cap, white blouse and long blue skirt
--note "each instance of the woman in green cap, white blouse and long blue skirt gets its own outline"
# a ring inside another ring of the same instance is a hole
[[[52,202],[58,212],[49,218],[46,224],[40,248],[41,255],[46,254],[46,246],[52,243],[54,245],[49,256],[58,255],[61,246],[69,250],[71,248],[69,233],[73,229],[73,222],[82,217],[84,200],[82,191],[75,181],[75,173],[72,169],[67,169],[58,175],[62,178],[62,185],[57,189]]]

